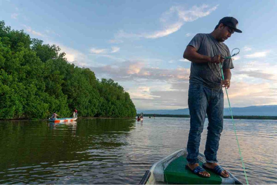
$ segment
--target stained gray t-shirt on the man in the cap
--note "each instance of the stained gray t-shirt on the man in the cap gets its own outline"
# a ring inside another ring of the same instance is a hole
[[[193,46],[197,53],[206,56],[222,55],[230,56],[229,48],[223,43],[218,42],[211,34],[196,34],[189,46]],[[233,69],[232,59],[226,59],[223,62],[223,69]],[[190,84],[200,84],[208,88],[221,88],[222,74],[219,64],[195,63],[190,65]]]

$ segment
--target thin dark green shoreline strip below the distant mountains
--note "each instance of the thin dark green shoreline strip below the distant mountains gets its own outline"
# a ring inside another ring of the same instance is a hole
[[[140,115],[140,114],[137,114]],[[190,115],[177,114],[155,114],[156,117],[175,117],[175,118],[190,118]],[[153,116],[153,114],[143,114],[145,117]],[[223,116],[224,119],[232,119],[231,116]],[[234,119],[268,119],[277,120],[277,116],[233,116]]]

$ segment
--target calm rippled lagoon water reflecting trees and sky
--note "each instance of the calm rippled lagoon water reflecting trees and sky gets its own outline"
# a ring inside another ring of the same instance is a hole
[[[0,122],[0,184],[138,184],[153,163],[186,147],[189,118]],[[250,184],[277,184],[277,121],[235,120]],[[207,120],[200,151],[205,149]],[[230,119],[219,163],[246,183]]]

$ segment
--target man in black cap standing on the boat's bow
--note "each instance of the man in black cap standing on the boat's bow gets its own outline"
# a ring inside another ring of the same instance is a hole
[[[203,167],[222,177],[229,177],[229,173],[217,164],[216,154],[223,128],[222,87],[230,87],[230,69],[234,68],[232,59],[224,60],[224,57],[230,56],[230,50],[223,42],[234,32],[242,33],[237,29],[237,25],[237,19],[224,17],[212,33],[196,34],[184,51],[184,58],[191,61],[188,90],[190,133],[186,167],[202,177],[210,177],[210,174],[199,166],[197,158],[206,113],[209,125],[204,152],[206,163]],[[224,81],[219,63],[222,63]]]

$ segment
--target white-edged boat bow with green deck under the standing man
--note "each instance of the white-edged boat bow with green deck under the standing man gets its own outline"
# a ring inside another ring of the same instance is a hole
[[[175,151],[162,160],[153,164],[147,170],[139,184],[242,184],[229,171],[229,177],[223,178],[207,170],[211,177],[200,177],[186,168],[186,148]],[[205,162],[202,153],[198,155],[199,165]]]

